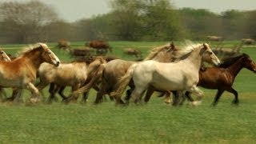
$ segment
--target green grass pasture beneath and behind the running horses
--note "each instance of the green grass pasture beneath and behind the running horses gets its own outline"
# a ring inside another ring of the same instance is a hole
[[[225,42],[234,46],[238,42]],[[155,46],[166,42],[110,42],[118,58],[132,60],[123,55],[122,48],[135,47],[142,56]],[[175,43],[179,46],[180,42]],[[212,43],[214,45],[214,43]],[[49,43],[49,47],[57,43]],[[84,42],[71,42],[83,46]],[[26,45],[2,45],[7,54],[16,54]],[[52,49],[61,61],[73,58],[65,50]],[[256,47],[243,46],[242,52],[256,62]],[[240,104],[232,106],[234,95],[225,92],[218,106],[210,106],[216,90],[204,91],[202,105],[192,107],[168,106],[156,95],[143,106],[115,106],[108,100],[94,106],[95,91],[90,90],[89,102],[64,105],[54,102],[46,105],[25,106],[24,103],[0,104],[1,143],[254,143],[256,142],[256,75],[242,70],[234,82]],[[48,87],[44,97],[48,97]],[[65,91],[69,94],[70,89]],[[10,89],[6,90],[8,95]],[[24,90],[22,98],[30,97]],[[108,97],[107,97],[108,98]]]

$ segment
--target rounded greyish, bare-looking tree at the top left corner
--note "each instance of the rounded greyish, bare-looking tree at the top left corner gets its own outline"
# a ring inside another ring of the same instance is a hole
[[[10,42],[38,42],[42,28],[58,20],[54,9],[39,1],[3,2],[0,5],[2,34]]]

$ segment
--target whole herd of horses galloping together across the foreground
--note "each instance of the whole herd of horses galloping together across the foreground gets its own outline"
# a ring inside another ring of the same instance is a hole
[[[155,47],[141,62],[98,56],[89,60],[60,62],[58,57],[45,43],[38,43],[10,59],[0,50],[0,94],[5,87],[11,87],[10,98],[2,98],[2,102],[19,102],[22,89],[30,90],[29,104],[40,102],[40,93],[50,85],[48,102],[62,97],[62,102],[77,102],[80,94],[82,102],[86,102],[90,89],[97,91],[94,103],[104,102],[108,94],[117,105],[149,102],[151,95],[157,91],[166,95],[166,102],[173,106],[182,105],[188,99],[193,106],[201,103],[203,92],[198,86],[218,90],[213,106],[218,104],[222,93],[226,90],[234,94],[235,105],[238,105],[238,92],[234,90],[235,77],[242,68],[256,73],[256,65],[248,54],[240,54],[222,62],[214,54],[207,43],[194,44],[186,42],[177,47],[173,42]],[[206,67],[203,62],[210,65]],[[36,79],[38,78],[38,83]],[[70,95],[63,94],[66,86],[71,86]],[[126,90],[127,87],[130,89]],[[126,90],[126,97],[122,94]],[[196,94],[197,98],[191,97]]]

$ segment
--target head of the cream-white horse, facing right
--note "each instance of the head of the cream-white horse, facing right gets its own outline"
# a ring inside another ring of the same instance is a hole
[[[215,66],[220,64],[218,57],[210,49],[210,46],[207,43],[202,44],[202,60],[204,62],[212,63]]]

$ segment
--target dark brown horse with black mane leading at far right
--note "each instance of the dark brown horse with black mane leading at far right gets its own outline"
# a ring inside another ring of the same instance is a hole
[[[234,58],[226,58],[218,67],[210,67],[199,71],[198,86],[202,86],[206,89],[218,90],[214,102],[212,103],[213,106],[218,104],[218,100],[224,91],[234,94],[234,101],[232,103],[238,105],[238,92],[234,90],[232,86],[234,79],[242,68],[246,68],[256,73],[256,65],[248,54],[241,54]],[[188,92],[186,92],[186,97],[190,102],[194,101]],[[150,97],[147,97],[146,99],[149,98]],[[184,102],[184,100],[185,98],[182,99],[182,102]]]

